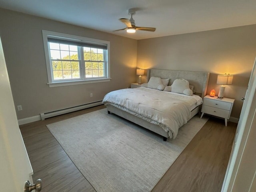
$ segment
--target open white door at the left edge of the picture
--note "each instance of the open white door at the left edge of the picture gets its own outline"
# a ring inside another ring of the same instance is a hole
[[[23,192],[33,170],[22,140],[0,38],[0,191]]]

